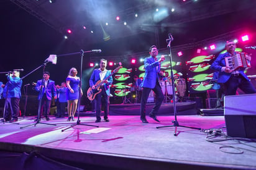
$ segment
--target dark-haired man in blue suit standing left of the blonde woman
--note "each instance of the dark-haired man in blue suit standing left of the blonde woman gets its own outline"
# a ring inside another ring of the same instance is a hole
[[[55,88],[55,82],[53,80],[50,80],[50,73],[49,72],[43,72],[43,79],[37,81],[37,85],[35,86],[35,90],[39,91],[39,100],[42,98],[42,105],[40,108],[40,113],[43,113],[43,116],[47,121],[50,120],[48,117],[48,114],[50,113],[50,104],[52,100],[52,96],[54,96],[54,99],[57,99],[57,91]],[[40,119],[40,117],[37,117],[37,119]],[[37,119],[35,121],[37,121]]]

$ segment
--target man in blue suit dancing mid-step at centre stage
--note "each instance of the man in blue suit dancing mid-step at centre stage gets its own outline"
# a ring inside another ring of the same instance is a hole
[[[158,82],[159,72],[161,67],[161,62],[165,60],[165,57],[160,57],[157,59],[158,49],[157,46],[153,45],[149,48],[150,57],[144,59],[145,75],[142,82],[142,99],[140,104],[140,120],[144,123],[149,123],[146,119],[146,103],[147,98],[149,98],[149,93],[151,90],[155,92],[155,106],[153,106],[152,111],[149,113],[149,117],[152,117],[155,121],[158,121],[155,114],[163,102],[163,92],[161,90],[160,84]]]

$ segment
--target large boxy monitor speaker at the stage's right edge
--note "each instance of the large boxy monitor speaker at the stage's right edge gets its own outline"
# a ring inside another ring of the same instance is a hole
[[[256,138],[256,94],[224,98],[224,117],[230,137]]]

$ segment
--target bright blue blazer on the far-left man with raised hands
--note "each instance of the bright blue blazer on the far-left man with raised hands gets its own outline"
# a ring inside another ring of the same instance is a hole
[[[6,98],[6,91],[8,88],[8,96],[7,98],[21,98],[21,86],[22,86],[22,80],[19,77],[10,77],[7,76],[7,79],[9,82],[6,83],[6,86],[4,87],[4,91],[2,92],[2,95],[4,98]]]

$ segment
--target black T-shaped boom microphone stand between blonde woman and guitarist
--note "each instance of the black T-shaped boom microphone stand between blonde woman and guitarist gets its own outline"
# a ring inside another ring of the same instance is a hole
[[[82,87],[82,72],[83,72],[83,54],[84,53],[91,53],[91,52],[94,52],[94,53],[100,53],[100,51],[83,51],[83,49],[80,50],[80,52],[78,53],[70,53],[70,54],[62,54],[62,55],[57,55],[58,57],[60,56],[70,56],[70,55],[73,55],[73,54],[81,54],[81,66],[80,66],[80,85],[79,85],[79,96],[78,96],[78,111],[77,111],[77,115],[78,115],[78,118],[77,118],[77,121],[76,121],[76,124],[73,124],[73,125],[70,125],[70,127],[66,128],[66,129],[70,129],[71,127],[74,127],[75,125],[88,125],[88,126],[93,126],[93,127],[99,127],[98,125],[89,125],[89,124],[81,124],[80,122],[80,101],[81,101],[81,87]],[[66,129],[63,129],[62,132],[64,132]]]

